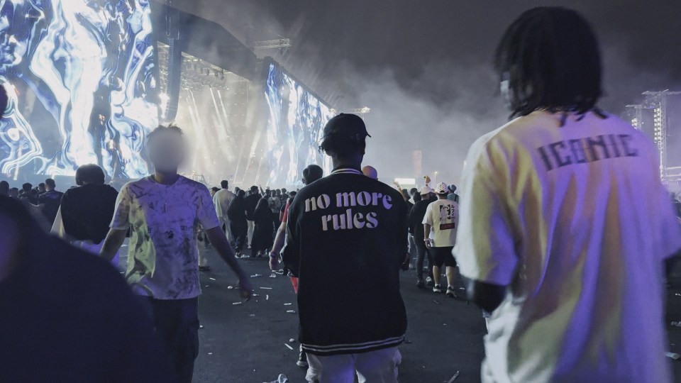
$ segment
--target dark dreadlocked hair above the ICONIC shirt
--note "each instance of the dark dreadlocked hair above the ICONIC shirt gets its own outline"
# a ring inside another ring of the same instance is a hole
[[[545,6],[524,12],[509,26],[494,54],[508,81],[511,118],[537,110],[594,111],[603,95],[601,55],[594,30],[577,11]]]

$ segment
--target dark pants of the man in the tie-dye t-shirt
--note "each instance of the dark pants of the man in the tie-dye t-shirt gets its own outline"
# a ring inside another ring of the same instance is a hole
[[[191,383],[199,355],[199,298],[142,298],[153,318],[155,335],[174,367],[175,382]]]

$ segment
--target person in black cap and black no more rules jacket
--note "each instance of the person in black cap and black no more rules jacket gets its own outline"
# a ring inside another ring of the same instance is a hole
[[[309,382],[353,382],[355,373],[360,382],[397,382],[407,211],[399,191],[362,174],[367,137],[362,118],[331,118],[320,149],[334,170],[301,189],[288,213],[282,260],[299,277]]]

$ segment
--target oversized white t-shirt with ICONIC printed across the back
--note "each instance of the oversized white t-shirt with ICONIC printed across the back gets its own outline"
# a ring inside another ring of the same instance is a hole
[[[670,382],[663,260],[681,248],[653,143],[619,118],[537,111],[472,145],[454,249],[508,286],[484,382]]]

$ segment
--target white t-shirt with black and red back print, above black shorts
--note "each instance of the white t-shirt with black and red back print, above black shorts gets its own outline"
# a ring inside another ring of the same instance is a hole
[[[456,242],[459,226],[459,205],[448,199],[438,199],[426,207],[424,225],[431,226],[431,239],[436,248],[448,248]]]

